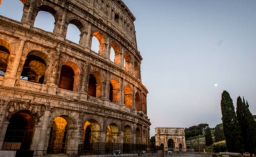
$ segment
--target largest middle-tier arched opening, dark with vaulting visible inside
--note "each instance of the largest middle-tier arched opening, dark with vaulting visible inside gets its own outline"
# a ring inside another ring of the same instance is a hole
[[[46,71],[45,59],[45,55],[41,52],[30,52],[23,66],[20,79],[43,84]]]

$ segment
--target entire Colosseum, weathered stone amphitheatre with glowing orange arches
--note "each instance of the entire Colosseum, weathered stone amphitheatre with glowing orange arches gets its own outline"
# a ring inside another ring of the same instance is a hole
[[[1,151],[76,157],[146,150],[148,91],[127,6],[121,0],[17,1],[24,5],[21,21],[0,15]],[[54,17],[52,32],[34,26],[39,12]],[[78,43],[66,38],[70,24],[80,31]]]

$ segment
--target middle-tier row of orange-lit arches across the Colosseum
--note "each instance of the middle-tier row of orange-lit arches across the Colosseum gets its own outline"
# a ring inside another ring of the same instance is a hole
[[[1,45],[1,43],[0,43]],[[0,46],[0,75],[4,76],[8,67],[8,58],[10,52],[4,46]],[[20,79],[27,80],[34,83],[46,84],[46,73],[49,71],[49,58],[43,52],[32,51],[27,54],[27,58],[23,65],[23,69],[20,74]],[[86,76],[86,75],[85,75]],[[51,76],[48,76],[48,78]],[[78,92],[81,82],[81,69],[74,62],[65,62],[61,66],[59,82],[57,82],[59,88]],[[87,94],[93,97],[102,98],[103,77],[99,71],[91,71],[88,75]],[[121,97],[124,98],[123,103],[127,107],[132,107],[135,99],[135,108],[138,111],[143,111],[146,114],[146,95],[141,94],[137,89],[135,95],[133,87],[126,85],[121,88],[120,80],[110,79],[105,83],[108,86],[108,99],[110,102],[117,104],[121,103]],[[123,94],[121,93],[123,91]]]

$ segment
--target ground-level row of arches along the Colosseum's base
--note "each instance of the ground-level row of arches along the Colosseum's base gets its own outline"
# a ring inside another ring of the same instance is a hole
[[[104,124],[99,124],[95,119],[89,119],[84,122],[80,144],[84,150],[93,149],[92,145],[104,142],[108,144],[144,144],[147,145],[147,131],[125,125],[122,129],[115,123],[110,122],[106,128]],[[74,140],[75,122],[66,115],[61,115],[49,124],[49,136],[46,138],[48,154],[66,153],[70,149],[72,140]],[[10,119],[4,136],[2,149],[8,150],[31,150],[35,133],[35,120],[27,111],[15,113]],[[105,134],[105,135],[104,135]],[[102,138],[105,137],[103,140]],[[134,138],[135,137],[135,138]],[[135,140],[134,140],[135,139]],[[48,141],[48,142],[47,142]],[[74,145],[73,145],[74,146]],[[106,148],[105,148],[106,149]]]

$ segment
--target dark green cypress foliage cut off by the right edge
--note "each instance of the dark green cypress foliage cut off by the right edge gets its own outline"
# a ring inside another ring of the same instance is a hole
[[[248,102],[237,98],[237,118],[241,127],[241,136],[244,142],[244,151],[256,153],[256,122],[249,110]]]

